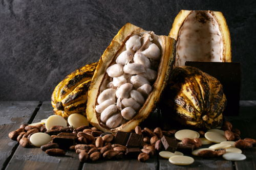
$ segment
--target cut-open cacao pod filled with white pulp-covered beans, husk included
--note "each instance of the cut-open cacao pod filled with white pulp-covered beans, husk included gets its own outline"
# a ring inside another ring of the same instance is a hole
[[[160,101],[173,69],[175,47],[173,38],[157,36],[131,23],[123,26],[101,56],[92,78],[87,103],[89,122],[104,132],[134,130]],[[144,98],[141,103],[132,91]]]

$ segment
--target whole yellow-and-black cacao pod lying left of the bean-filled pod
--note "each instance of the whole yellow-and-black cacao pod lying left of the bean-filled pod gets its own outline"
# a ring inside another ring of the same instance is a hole
[[[55,87],[52,93],[54,114],[66,120],[73,113],[86,116],[88,90],[97,65],[96,62],[78,68]]]

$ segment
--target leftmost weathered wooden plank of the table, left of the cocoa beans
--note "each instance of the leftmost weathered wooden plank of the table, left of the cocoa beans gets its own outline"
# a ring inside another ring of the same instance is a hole
[[[3,102],[0,101],[0,169],[4,169],[18,146],[16,140],[8,137],[11,131],[21,124],[31,123],[31,117],[38,110],[39,102]]]

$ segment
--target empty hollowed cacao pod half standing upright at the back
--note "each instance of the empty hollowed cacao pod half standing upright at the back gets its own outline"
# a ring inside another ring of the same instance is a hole
[[[185,61],[231,62],[231,41],[221,12],[181,10],[169,37],[177,40],[174,66]]]

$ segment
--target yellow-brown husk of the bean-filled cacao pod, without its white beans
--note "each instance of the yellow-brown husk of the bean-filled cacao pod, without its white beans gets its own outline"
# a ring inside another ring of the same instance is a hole
[[[97,98],[101,91],[104,90],[103,85],[106,84],[104,80],[108,79],[106,69],[116,63],[116,58],[123,52],[125,42],[134,35],[142,36],[143,34],[152,34],[151,31],[144,31],[143,29],[126,23],[125,26],[118,32],[112,40],[110,46],[106,48],[104,54],[99,60],[99,64],[95,70],[92,83],[89,89],[88,103],[87,103],[87,118],[88,121],[97,129],[104,132],[116,133],[117,131],[130,132],[135,129],[144,119],[148,117],[157,107],[164,88],[167,85],[170,72],[173,69],[176,40],[167,36],[157,36],[153,33],[153,43],[157,44],[161,51],[161,59],[158,67],[158,75],[155,83],[152,85],[152,91],[148,95],[144,105],[140,108],[137,114],[125,124],[116,128],[109,128],[101,123],[100,114],[96,112],[95,107]]]

